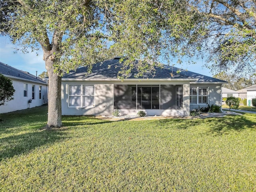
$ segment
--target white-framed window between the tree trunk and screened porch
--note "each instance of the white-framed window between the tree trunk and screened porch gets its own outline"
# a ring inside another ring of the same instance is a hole
[[[93,107],[94,85],[69,85],[69,107]]]

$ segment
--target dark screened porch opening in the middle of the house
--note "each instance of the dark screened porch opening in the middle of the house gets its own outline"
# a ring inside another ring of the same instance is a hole
[[[114,85],[115,109],[165,110],[182,107],[182,85]]]

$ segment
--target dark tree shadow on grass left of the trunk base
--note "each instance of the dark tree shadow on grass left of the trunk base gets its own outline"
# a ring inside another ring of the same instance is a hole
[[[64,129],[35,130],[25,134],[16,134],[0,138],[2,145],[0,160],[28,153],[37,147],[64,140],[68,138],[68,136],[63,130]]]

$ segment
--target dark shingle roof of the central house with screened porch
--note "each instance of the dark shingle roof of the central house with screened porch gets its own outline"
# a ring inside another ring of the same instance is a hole
[[[108,66],[111,66],[108,68]],[[118,71],[120,70],[121,64],[119,63],[119,59],[111,59],[106,60],[102,63],[96,63],[92,67],[92,72],[87,74],[87,67],[80,67],[76,71],[70,71],[68,74],[65,74],[62,78],[84,78],[84,79],[117,79]],[[163,68],[157,68],[154,77],[150,74],[144,74],[142,78],[154,78],[154,79],[184,79],[184,78],[192,78],[199,79],[196,82],[220,82],[226,83],[226,81],[219,80],[216,78],[212,78],[209,76],[205,76],[202,74],[198,74],[191,71],[181,70],[179,74],[176,74],[176,71],[180,70],[179,68],[172,66],[164,66]],[[173,74],[171,77],[170,73]],[[133,79],[134,75],[137,72],[134,70],[128,77],[128,79]]]

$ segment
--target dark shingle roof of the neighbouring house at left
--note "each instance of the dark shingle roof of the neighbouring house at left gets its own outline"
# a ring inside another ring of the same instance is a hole
[[[14,78],[18,78],[18,79],[24,79],[24,80],[28,80],[28,81],[46,84],[46,82],[44,80],[42,80],[40,78],[36,78],[36,76],[34,76],[28,72],[18,70],[16,68],[9,66],[7,64],[4,64],[2,62],[0,62],[0,73],[3,75],[8,75],[8,76],[12,76]]]

